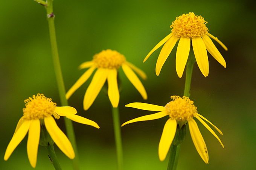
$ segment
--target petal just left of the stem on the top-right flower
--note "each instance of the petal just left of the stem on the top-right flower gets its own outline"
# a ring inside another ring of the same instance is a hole
[[[176,53],[176,71],[178,77],[182,77],[184,72],[187,58],[189,57],[189,50],[190,50],[190,39],[189,38],[181,38]]]

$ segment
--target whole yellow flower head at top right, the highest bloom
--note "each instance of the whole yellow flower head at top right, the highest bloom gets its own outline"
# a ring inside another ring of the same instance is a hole
[[[201,15],[196,16],[194,12],[189,12],[189,14],[183,14],[179,17],[176,17],[176,20],[172,22],[172,25],[170,26],[172,28],[172,33],[162,39],[162,41],[160,41],[148,53],[143,62],[145,62],[155,50],[157,50],[165,43],[158,56],[157,64],[155,67],[155,73],[158,76],[173,47],[177,41],[180,40],[176,52],[176,71],[178,77],[182,77],[185,65],[187,63],[187,58],[189,56],[191,43],[197,65],[205,77],[209,74],[209,63],[206,50],[208,50],[213,58],[215,58],[221,65],[223,65],[223,67],[226,68],[226,62],[224,58],[210,38],[217,41],[226,51],[227,47],[221,43],[217,37],[208,33],[206,23],[207,22],[203,17],[201,17]]]

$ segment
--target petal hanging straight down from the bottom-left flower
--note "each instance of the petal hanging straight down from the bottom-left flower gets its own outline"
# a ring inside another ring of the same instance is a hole
[[[40,140],[40,120],[31,120],[29,127],[29,137],[27,138],[27,156],[30,165],[35,168],[37,164],[37,151]]]

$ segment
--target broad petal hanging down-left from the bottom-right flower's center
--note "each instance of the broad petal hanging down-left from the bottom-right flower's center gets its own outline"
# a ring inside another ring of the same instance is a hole
[[[172,144],[172,140],[174,139],[176,128],[176,120],[169,118],[165,123],[165,127],[163,127],[163,133],[159,142],[158,155],[160,161],[164,161],[166,158],[168,150]]]

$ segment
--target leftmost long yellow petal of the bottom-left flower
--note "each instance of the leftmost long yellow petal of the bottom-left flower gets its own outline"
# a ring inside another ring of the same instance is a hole
[[[18,146],[18,144],[23,140],[23,138],[26,136],[27,131],[29,130],[30,126],[30,120],[25,120],[21,125],[20,128],[18,128],[17,132],[13,135],[10,143],[7,146],[7,149],[5,151],[4,160],[7,161],[9,157],[11,156],[14,149]]]

